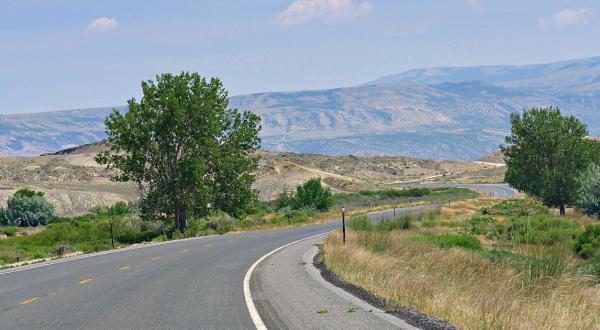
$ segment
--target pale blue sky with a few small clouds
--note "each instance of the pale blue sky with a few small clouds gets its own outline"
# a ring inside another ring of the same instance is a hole
[[[597,0],[0,0],[0,113],[122,105],[163,72],[241,95],[598,55]]]

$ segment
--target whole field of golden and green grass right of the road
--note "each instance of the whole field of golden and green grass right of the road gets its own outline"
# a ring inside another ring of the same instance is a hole
[[[478,199],[330,235],[345,280],[465,329],[600,328],[600,225],[530,199]],[[586,227],[587,225],[587,227]]]

